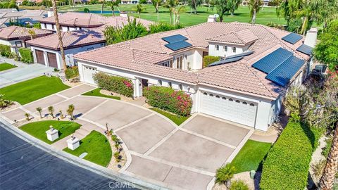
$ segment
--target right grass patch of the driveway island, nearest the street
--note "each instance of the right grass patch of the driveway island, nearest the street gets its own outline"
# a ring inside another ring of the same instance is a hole
[[[74,156],[80,156],[82,153],[88,153],[84,157],[85,160],[91,161],[98,165],[106,167],[111,161],[111,145],[108,139],[101,133],[92,131],[87,137],[84,137],[80,141],[80,146],[74,151],[69,148],[63,149],[67,153],[71,153]]]

